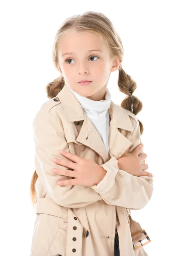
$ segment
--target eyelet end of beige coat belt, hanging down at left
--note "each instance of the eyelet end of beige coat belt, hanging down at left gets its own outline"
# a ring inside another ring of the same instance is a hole
[[[88,236],[88,230],[82,227],[71,208],[62,207],[51,198],[37,198],[35,210],[36,214],[45,213],[63,218],[63,222],[68,223],[66,256],[70,256],[71,253],[82,256],[82,238]]]

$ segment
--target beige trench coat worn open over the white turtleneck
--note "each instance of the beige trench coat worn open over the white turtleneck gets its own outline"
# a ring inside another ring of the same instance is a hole
[[[67,85],[37,112],[33,121],[37,216],[31,256],[114,256],[115,228],[120,256],[147,256],[138,242],[146,239],[140,232],[144,227],[130,218],[130,210],[147,205],[153,179],[130,175],[117,166],[128,148],[130,153],[141,143],[139,121],[112,101],[108,112],[108,157],[99,133]],[[92,187],[57,185],[58,180],[72,178],[52,172],[67,169],[53,162],[55,157],[68,160],[59,154],[61,149],[94,160],[107,171],[104,179]],[[132,240],[133,233],[137,236]],[[133,244],[141,247],[134,250]]]

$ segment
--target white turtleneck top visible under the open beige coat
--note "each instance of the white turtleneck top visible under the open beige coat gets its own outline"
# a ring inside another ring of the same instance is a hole
[[[83,112],[86,114],[88,119],[91,120],[94,127],[98,131],[100,137],[102,138],[103,143],[105,144],[107,150],[107,156],[109,152],[109,123],[111,121],[108,108],[111,105],[111,93],[108,88],[106,89],[105,99],[101,99],[99,101],[88,99],[85,96],[82,96],[72,90],[68,84],[66,84],[68,88],[72,91],[74,96],[77,98],[79,103],[82,106]]]

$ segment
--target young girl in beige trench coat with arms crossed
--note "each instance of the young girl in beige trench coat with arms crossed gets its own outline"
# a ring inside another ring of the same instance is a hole
[[[57,32],[53,61],[61,76],[47,85],[50,100],[33,121],[31,256],[147,256],[150,239],[130,210],[150,201],[153,176],[136,118],[142,102],[122,59],[122,41],[102,13],[69,17]],[[121,106],[107,88],[116,70],[127,95]]]

